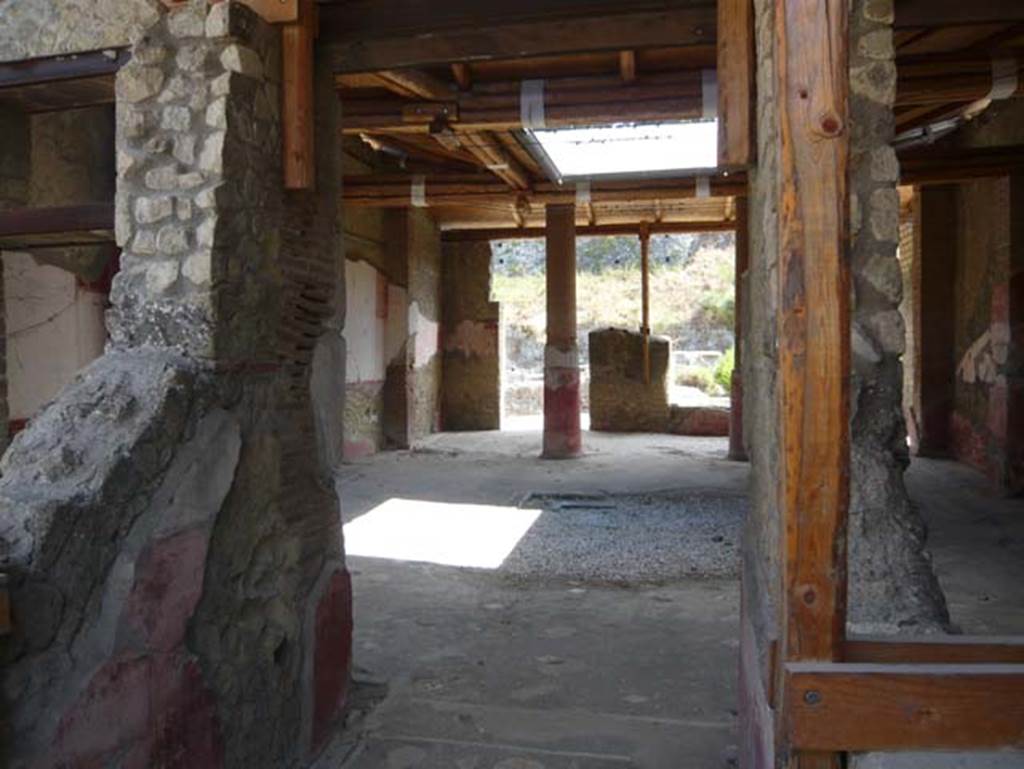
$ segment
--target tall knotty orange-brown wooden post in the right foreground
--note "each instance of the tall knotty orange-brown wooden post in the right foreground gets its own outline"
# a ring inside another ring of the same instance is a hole
[[[776,0],[778,392],[785,661],[837,660],[850,495],[848,0]],[[779,666],[784,669],[784,666]],[[779,685],[776,689],[784,691]],[[782,702],[783,739],[792,707]],[[784,750],[784,744],[783,744]],[[801,754],[794,766],[839,766]]]

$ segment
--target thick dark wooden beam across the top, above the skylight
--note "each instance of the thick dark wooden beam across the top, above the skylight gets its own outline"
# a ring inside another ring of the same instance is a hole
[[[330,43],[329,48],[335,72],[376,72],[453,61],[707,44],[715,39],[715,24],[711,6],[547,23],[485,24],[379,40],[348,38]],[[325,24],[325,31],[331,34],[336,29]]]

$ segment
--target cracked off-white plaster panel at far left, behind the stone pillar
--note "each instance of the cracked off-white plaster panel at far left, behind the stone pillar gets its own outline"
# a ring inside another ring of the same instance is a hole
[[[103,353],[104,297],[29,254],[4,252],[3,270],[10,419],[29,419]]]

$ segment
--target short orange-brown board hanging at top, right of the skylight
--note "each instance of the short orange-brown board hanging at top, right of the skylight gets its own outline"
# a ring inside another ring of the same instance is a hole
[[[751,0],[718,4],[718,164],[754,160],[754,8]]]

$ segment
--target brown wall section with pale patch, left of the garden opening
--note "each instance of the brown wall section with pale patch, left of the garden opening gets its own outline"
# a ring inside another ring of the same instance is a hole
[[[490,299],[490,244],[442,248],[445,430],[498,430],[502,419],[501,305]]]

